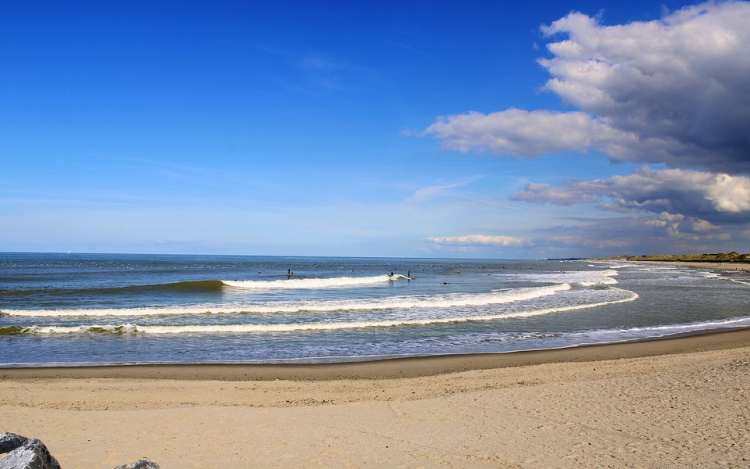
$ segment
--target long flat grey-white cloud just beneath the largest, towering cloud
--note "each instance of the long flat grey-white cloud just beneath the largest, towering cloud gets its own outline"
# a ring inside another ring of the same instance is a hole
[[[631,176],[568,180],[560,187],[527,184],[512,200],[570,205],[606,201],[621,211],[675,213],[718,222],[750,221],[750,178],[643,167]]]

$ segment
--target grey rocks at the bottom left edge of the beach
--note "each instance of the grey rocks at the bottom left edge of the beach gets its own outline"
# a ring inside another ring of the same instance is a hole
[[[0,469],[62,469],[44,443],[15,433],[0,433],[0,454],[5,453]],[[159,465],[144,458],[115,469],[159,469]]]

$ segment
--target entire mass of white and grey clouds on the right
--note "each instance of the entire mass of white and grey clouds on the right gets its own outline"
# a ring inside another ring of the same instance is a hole
[[[748,24],[750,3],[742,1],[614,26],[572,12],[542,26],[546,37],[561,39],[547,46],[551,56],[539,64],[551,75],[544,90],[575,110],[467,112],[439,118],[422,135],[464,153],[517,159],[594,153],[645,165],[629,176],[529,182],[511,200],[595,204],[620,215],[575,219],[577,225],[549,228],[527,244],[548,250],[731,246],[750,236]],[[486,244],[478,235],[431,241],[464,246],[472,239]]]

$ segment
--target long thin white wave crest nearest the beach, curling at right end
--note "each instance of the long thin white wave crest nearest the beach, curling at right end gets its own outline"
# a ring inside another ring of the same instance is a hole
[[[598,308],[601,306],[627,303],[639,298],[637,293],[627,290],[620,292],[628,294],[625,298],[617,300],[589,303],[582,305],[558,306],[554,308],[543,308],[537,310],[517,311],[503,314],[490,314],[481,316],[455,316],[448,318],[426,318],[426,319],[393,319],[388,321],[353,321],[353,322],[327,322],[327,323],[293,323],[293,324],[222,324],[222,325],[185,325],[185,326],[139,326],[136,324],[106,324],[106,325],[83,325],[83,326],[29,326],[12,328],[13,332],[5,332],[5,335],[26,334],[237,334],[237,333],[269,333],[269,332],[296,332],[296,331],[332,331],[342,329],[361,329],[372,327],[398,327],[398,326],[427,326],[434,324],[448,324],[471,321],[495,321],[512,318],[527,318],[545,314],[576,311],[581,309]]]

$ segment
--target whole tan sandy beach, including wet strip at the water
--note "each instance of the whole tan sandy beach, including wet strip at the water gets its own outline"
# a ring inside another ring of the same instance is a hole
[[[371,364],[0,370],[0,431],[40,438],[65,469],[748,467],[749,394],[742,330]]]

